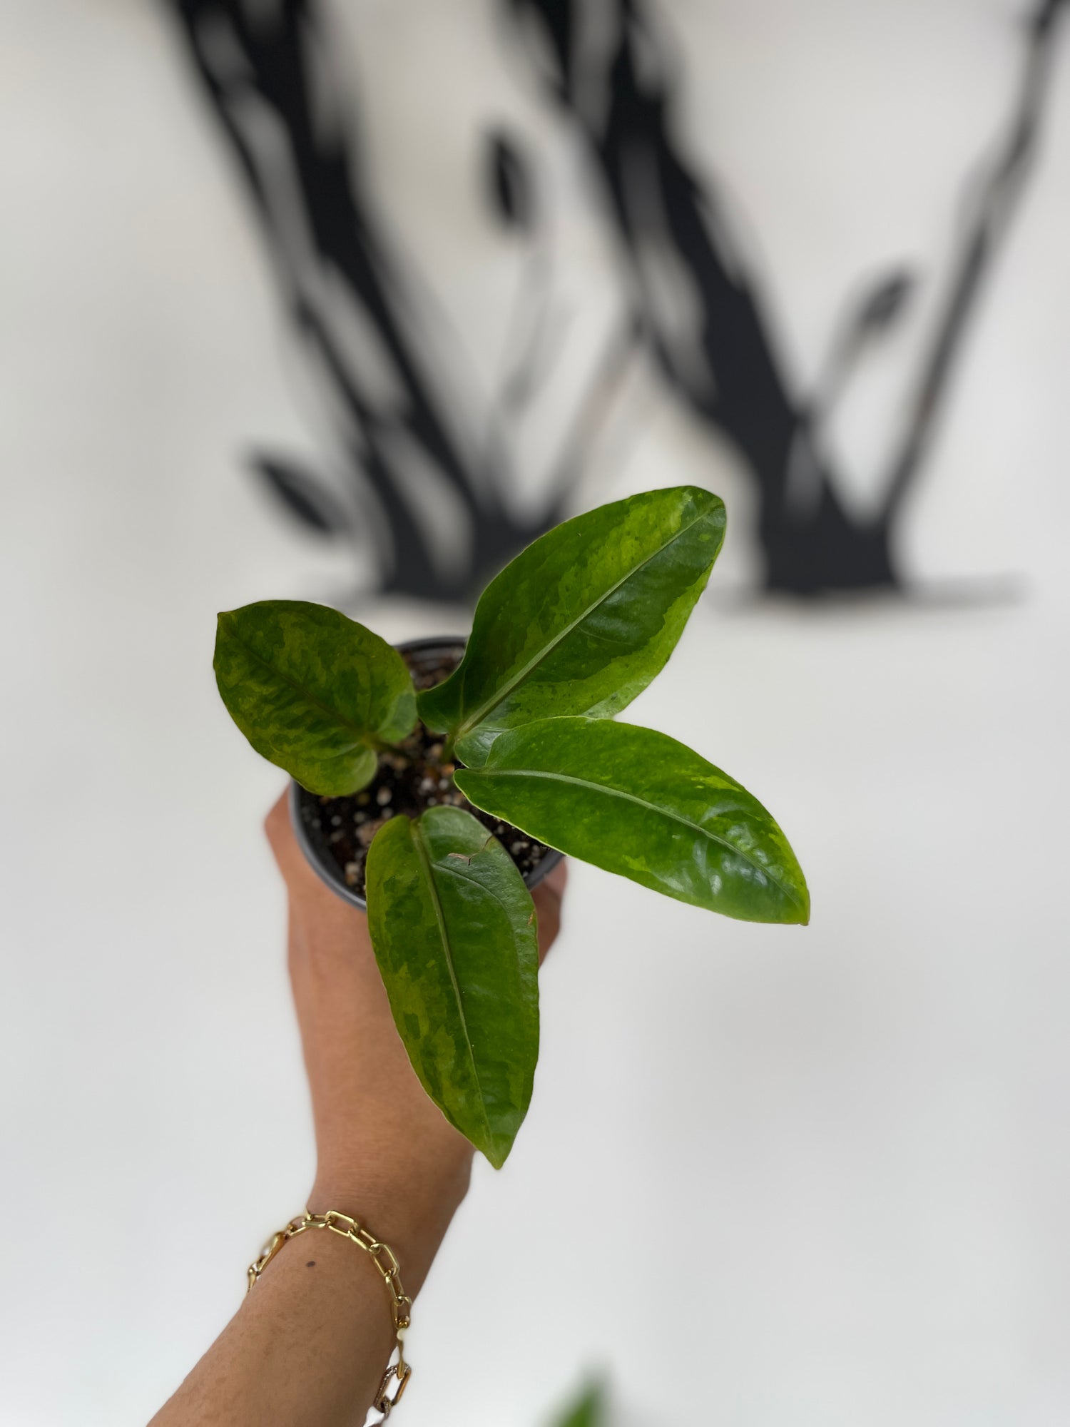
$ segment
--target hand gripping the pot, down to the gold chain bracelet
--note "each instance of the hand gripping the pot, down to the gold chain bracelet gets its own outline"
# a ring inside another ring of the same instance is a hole
[[[472,1147],[409,1065],[368,919],[324,886],[301,852],[284,793],[265,831],[290,899],[290,980],[315,1122],[310,1207],[367,1222],[405,1263],[415,1293],[468,1187]],[[539,960],[561,925],[561,862],[534,890]]]

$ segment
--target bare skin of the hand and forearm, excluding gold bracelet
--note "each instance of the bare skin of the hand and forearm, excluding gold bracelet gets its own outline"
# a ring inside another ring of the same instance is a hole
[[[308,1209],[341,1210],[394,1249],[415,1297],[468,1190],[472,1147],[408,1063],[362,912],[314,875],[285,798],[265,823],[290,898],[290,980],[315,1122]],[[534,892],[542,959],[565,865]],[[280,1214],[280,1227],[292,1212]],[[291,1239],[150,1427],[362,1427],[394,1349],[387,1291],[337,1234]]]

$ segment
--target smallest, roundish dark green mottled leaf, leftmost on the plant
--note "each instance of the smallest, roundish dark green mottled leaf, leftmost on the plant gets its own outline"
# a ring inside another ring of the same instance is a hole
[[[258,753],[310,792],[341,798],[375,773],[375,748],[417,721],[405,661],[337,609],[264,599],[221,614],[215,682]]]

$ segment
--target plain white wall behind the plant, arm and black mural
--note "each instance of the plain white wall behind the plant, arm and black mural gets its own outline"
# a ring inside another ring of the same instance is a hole
[[[458,201],[465,153],[484,111],[544,121],[486,9],[348,19],[384,201],[489,370],[514,258]],[[669,9],[691,140],[810,371],[853,283],[946,255],[1020,7]],[[418,1303],[411,1427],[535,1427],[588,1366],[625,1424],[1067,1418],[1069,76],[1063,54],[906,531],[919,577],[1010,572],[1026,598],[695,616],[635,718],[769,801],[813,925],[715,920],[574,869],[535,1104]],[[424,123],[445,93],[457,121]],[[220,708],[210,649],[217,609],[330,599],[351,572],[238,472],[250,440],[314,437],[156,10],[3,6],[0,173],[0,1421],[111,1427],[173,1388],[307,1190],[258,833],[280,779]],[[572,281],[611,304],[598,225],[569,223]],[[923,317],[845,412],[863,485]],[[699,478],[745,512],[740,474],[652,387],[648,411],[602,488]],[[725,584],[752,568],[742,537],[723,564]]]

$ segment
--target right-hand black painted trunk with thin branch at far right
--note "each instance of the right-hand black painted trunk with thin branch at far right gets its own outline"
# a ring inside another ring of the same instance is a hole
[[[865,340],[895,320],[913,280],[882,280],[847,325],[823,390],[793,394],[759,284],[733,241],[718,190],[703,187],[675,138],[678,77],[653,7],[646,0],[606,0],[601,14],[609,43],[599,51],[601,73],[592,73],[599,63],[593,47],[581,50],[578,43],[584,0],[502,0],[535,59],[534,71],[584,136],[602,176],[639,323],[666,381],[735,442],[755,477],[768,589],[816,595],[900,586],[892,554],[896,521],[930,448],[967,320],[1036,151],[1056,21],[1066,3],[1041,0],[1026,26],[1026,63],[1007,133],[977,186],[905,437],[889,464],[883,505],[862,519],[837,494],[822,421]],[[673,290],[693,297],[673,300]]]

